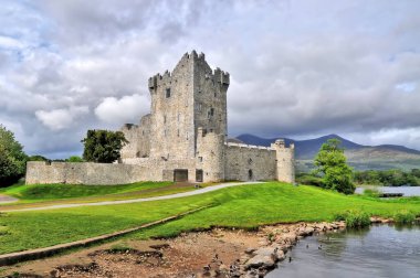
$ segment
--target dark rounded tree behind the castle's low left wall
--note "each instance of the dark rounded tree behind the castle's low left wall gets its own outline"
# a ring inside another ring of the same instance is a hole
[[[120,150],[128,142],[122,131],[87,130],[83,159],[91,162],[112,163],[120,158]]]

